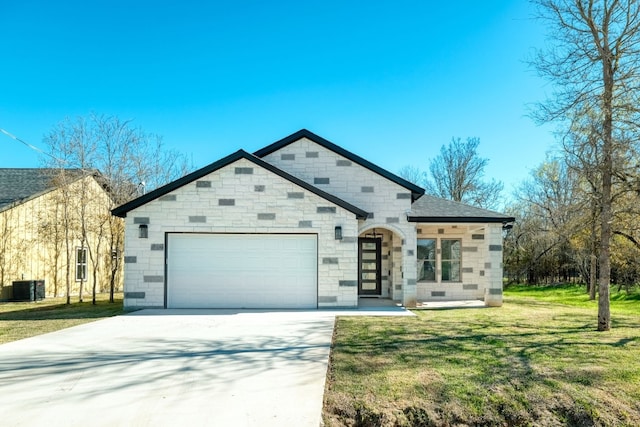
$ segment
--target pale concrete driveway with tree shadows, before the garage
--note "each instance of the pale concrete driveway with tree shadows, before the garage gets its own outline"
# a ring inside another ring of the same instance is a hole
[[[144,310],[0,345],[0,424],[317,427],[335,314]]]

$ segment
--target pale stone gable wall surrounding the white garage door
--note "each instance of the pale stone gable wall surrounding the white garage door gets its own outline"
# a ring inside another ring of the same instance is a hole
[[[164,307],[165,235],[191,232],[317,234],[319,307],[356,306],[357,227],[353,213],[240,159],[127,213],[125,305]]]

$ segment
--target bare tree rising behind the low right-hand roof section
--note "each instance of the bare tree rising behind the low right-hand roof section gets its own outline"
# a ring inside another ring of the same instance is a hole
[[[503,184],[492,179],[485,181],[484,168],[489,159],[478,156],[479,138],[453,138],[440,148],[440,154],[429,164],[426,178],[429,193],[456,202],[468,203],[485,209],[500,205]]]

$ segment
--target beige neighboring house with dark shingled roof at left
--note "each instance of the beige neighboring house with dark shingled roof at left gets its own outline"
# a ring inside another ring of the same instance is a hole
[[[2,298],[23,280],[44,280],[47,296],[65,296],[67,279],[72,295],[81,284],[90,293],[94,280],[98,291],[109,289],[118,253],[110,249],[111,234],[122,233],[111,207],[95,171],[0,169]]]

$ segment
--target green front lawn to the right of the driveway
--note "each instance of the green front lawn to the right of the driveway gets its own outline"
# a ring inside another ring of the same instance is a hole
[[[595,303],[548,291],[512,288],[500,308],[339,319],[325,423],[640,425],[640,301],[612,301],[613,329],[597,332]]]

